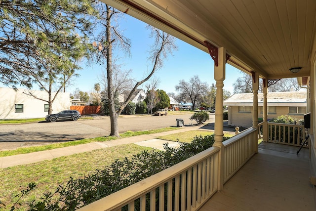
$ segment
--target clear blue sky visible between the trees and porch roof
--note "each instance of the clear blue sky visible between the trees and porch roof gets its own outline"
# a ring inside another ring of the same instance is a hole
[[[131,16],[126,15],[126,18],[120,21],[119,28],[123,30],[125,37],[131,40],[131,57],[120,57],[121,69],[131,69],[132,77],[140,80],[151,70],[151,64],[148,63],[148,51],[153,43],[149,38],[150,31],[146,29],[146,23],[143,23]],[[169,55],[164,65],[159,69],[154,76],[159,79],[159,89],[168,92],[175,92],[175,85],[179,84],[180,80],[189,81],[194,75],[198,75],[202,82],[207,82],[209,85],[215,84],[214,80],[214,61],[210,55],[194,46],[191,46],[181,40],[176,41],[178,50]],[[77,87],[81,91],[90,92],[95,83],[99,83],[99,78],[104,71],[100,65],[87,66],[81,64],[82,70],[79,70],[79,78],[72,86],[67,88],[68,92],[73,92]],[[240,71],[231,65],[226,65],[226,79],[224,81],[224,89],[233,93],[233,83],[240,76]]]

